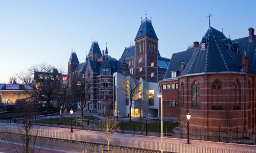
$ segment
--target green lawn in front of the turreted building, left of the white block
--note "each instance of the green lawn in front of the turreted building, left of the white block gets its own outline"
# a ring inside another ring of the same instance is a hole
[[[76,119],[76,117],[72,117],[73,119]],[[94,117],[94,116],[83,116],[84,119],[89,119],[89,120],[99,120],[99,118]],[[59,117],[58,118],[42,118],[38,119],[37,122],[39,123],[52,123],[52,124],[58,124],[59,123]],[[75,123],[75,121],[73,122]],[[67,124],[71,125],[71,117],[63,117],[62,118],[62,124]]]

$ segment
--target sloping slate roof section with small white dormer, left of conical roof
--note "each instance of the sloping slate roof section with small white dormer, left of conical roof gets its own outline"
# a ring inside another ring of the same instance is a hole
[[[181,65],[183,60],[186,63],[190,60],[191,56],[193,55],[193,48],[187,48],[187,50],[179,53],[174,53],[172,59],[170,59],[168,69],[165,73],[164,79],[170,78],[170,72],[177,71],[177,77],[181,75]]]

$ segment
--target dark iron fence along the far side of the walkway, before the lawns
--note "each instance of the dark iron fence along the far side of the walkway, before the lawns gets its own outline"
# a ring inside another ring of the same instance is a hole
[[[6,122],[19,123],[21,119],[7,119]],[[63,123],[58,124],[58,118],[51,118],[51,116],[37,117],[35,118],[34,124],[42,126],[53,126],[62,128],[71,128],[70,120],[63,118]],[[83,124],[73,121],[73,128],[79,130],[90,130],[90,131],[101,131],[98,124],[102,123],[102,120],[88,120]],[[159,122],[154,125],[139,122],[119,122],[118,133],[123,134],[135,134],[145,136],[160,136],[161,124]],[[167,129],[167,130],[166,130]],[[164,136],[170,138],[181,138],[186,139],[186,129],[171,127],[164,127]],[[229,142],[229,143],[242,143],[242,144],[256,144],[256,132],[240,132],[240,131],[207,131],[202,130],[189,130],[189,138],[194,140],[203,141],[215,141],[215,142]]]

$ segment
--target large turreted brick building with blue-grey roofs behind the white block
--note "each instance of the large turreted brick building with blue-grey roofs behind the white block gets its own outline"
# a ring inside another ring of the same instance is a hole
[[[86,62],[79,63],[76,53],[71,53],[68,62],[68,75],[72,78],[75,76],[86,84],[92,84],[87,106],[88,111],[103,113],[106,101],[109,101],[114,115],[117,115],[117,111],[123,110],[119,111],[119,115],[127,116],[130,114],[127,113],[129,110],[126,109],[126,104],[128,104],[125,102],[126,96],[117,92],[118,100],[114,99],[113,77],[125,82],[127,76],[133,75],[136,79],[141,80],[144,93],[154,89],[153,95],[155,95],[158,93],[158,81],[163,79],[169,61],[170,59],[160,56],[158,38],[152,22],[145,18],[141,21],[135,37],[135,45],[125,47],[119,60],[109,56],[107,47],[101,52],[98,42],[93,41]],[[75,80],[75,82],[80,83],[78,80]],[[148,97],[138,98],[139,101],[141,99],[144,100],[143,103],[145,104],[149,103],[148,101],[151,101],[151,105],[154,104],[153,106],[147,104],[144,112],[151,112],[154,116],[159,115],[158,98],[155,98],[155,100]],[[134,112],[138,112],[138,108],[134,107],[133,109],[137,109]],[[148,109],[149,111],[147,111]]]

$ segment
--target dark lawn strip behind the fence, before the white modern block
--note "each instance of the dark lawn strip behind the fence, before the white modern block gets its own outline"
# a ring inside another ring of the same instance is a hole
[[[141,127],[142,125],[142,127]],[[123,130],[135,130],[140,131],[141,128],[144,128],[144,131],[146,130],[146,123],[145,122],[123,122]],[[143,127],[144,126],[144,127]],[[163,131],[165,132],[165,128],[167,133],[173,133],[174,127],[177,127],[178,123],[172,123],[169,121],[163,121]],[[120,122],[120,129],[122,129],[122,122]],[[147,131],[151,132],[159,132],[161,130],[161,123],[155,122],[155,123],[147,123]]]

